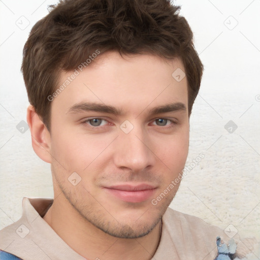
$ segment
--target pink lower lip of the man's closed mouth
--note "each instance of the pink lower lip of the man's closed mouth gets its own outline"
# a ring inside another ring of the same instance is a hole
[[[119,190],[113,188],[104,188],[104,189],[122,201],[133,202],[133,203],[146,201],[153,195],[155,191],[155,188],[137,190],[137,191],[126,191],[126,190]]]

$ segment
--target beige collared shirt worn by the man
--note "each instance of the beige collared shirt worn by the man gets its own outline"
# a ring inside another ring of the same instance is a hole
[[[0,249],[23,260],[83,260],[86,259],[66,244],[42,218],[53,199],[23,198],[22,217],[0,231]],[[159,246],[152,260],[183,259],[213,260],[217,255],[216,237],[230,239],[217,226],[202,219],[168,208],[163,216]],[[234,237],[239,241],[239,235]],[[240,256],[247,255],[255,240],[238,243]],[[256,253],[250,259],[260,259]],[[257,256],[253,258],[253,256]],[[101,260],[102,252],[99,256]],[[105,259],[104,259],[105,260]]]

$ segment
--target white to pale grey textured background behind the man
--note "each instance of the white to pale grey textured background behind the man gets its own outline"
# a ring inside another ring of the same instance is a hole
[[[205,158],[184,177],[171,207],[260,238],[260,1],[175,3],[182,5],[205,66],[187,165],[200,153]],[[16,128],[28,106],[22,48],[50,4],[56,1],[0,1],[0,229],[20,218],[23,197],[53,197],[50,165],[32,150],[29,129]],[[224,128],[230,120],[237,129]]]

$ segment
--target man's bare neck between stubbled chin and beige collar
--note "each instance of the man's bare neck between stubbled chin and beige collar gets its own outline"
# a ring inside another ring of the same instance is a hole
[[[149,260],[158,247],[161,234],[160,221],[148,235],[141,238],[110,236],[84,219],[63,193],[54,199],[43,219],[64,242],[86,259]]]

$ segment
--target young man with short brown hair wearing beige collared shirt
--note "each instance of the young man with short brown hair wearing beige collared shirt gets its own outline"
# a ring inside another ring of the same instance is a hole
[[[1,259],[214,259],[216,238],[228,242],[168,208],[203,72],[178,10],[166,0],[69,0],[32,28],[27,122],[51,164],[54,200],[23,199],[21,219],[1,231]]]

